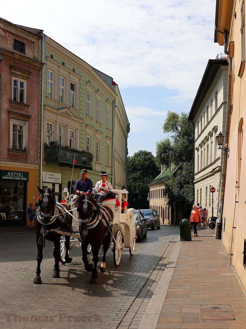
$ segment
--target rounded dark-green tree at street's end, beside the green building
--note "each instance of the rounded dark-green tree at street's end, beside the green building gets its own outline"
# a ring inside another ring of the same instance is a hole
[[[156,159],[151,152],[140,150],[132,157],[128,157],[127,164],[130,207],[148,209],[149,188],[147,185],[160,172]]]

